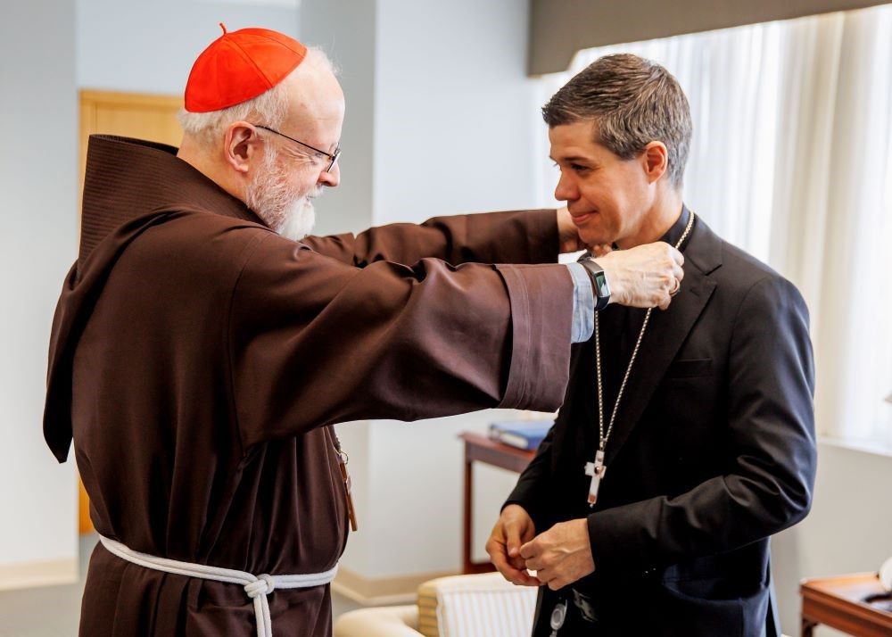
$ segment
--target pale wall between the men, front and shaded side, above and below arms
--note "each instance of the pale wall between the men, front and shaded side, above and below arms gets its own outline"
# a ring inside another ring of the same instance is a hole
[[[342,184],[318,203],[320,231],[441,214],[529,207],[538,178],[533,84],[524,74],[525,3],[305,0],[302,41],[342,67]],[[356,121],[359,120],[359,126]],[[356,147],[356,151],[354,151]],[[462,446],[485,411],[414,424],[338,426],[351,453],[360,530],[342,564],[370,578],[458,571]],[[480,468],[475,553],[516,476]]]

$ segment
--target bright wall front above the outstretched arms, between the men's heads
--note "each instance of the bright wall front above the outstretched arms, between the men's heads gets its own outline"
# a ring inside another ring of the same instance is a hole
[[[375,222],[528,208],[527,4],[378,1]]]

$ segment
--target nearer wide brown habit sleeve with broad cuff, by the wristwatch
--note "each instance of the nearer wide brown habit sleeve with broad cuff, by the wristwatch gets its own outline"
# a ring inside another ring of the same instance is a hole
[[[227,328],[244,447],[365,418],[557,409],[572,312],[562,265],[358,269],[263,236]]]

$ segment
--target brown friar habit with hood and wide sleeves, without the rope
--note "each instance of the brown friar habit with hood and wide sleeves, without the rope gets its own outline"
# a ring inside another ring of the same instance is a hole
[[[255,575],[320,573],[347,537],[331,425],[558,408],[573,283],[553,264],[553,210],[295,243],[175,153],[91,138],[54,318],[45,437],[64,461],[73,435],[100,534]],[[327,585],[268,601],[274,634],[331,634]],[[94,550],[82,635],[255,630],[240,585]]]

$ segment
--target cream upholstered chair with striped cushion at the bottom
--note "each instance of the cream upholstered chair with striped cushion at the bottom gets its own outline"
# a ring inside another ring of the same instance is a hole
[[[414,605],[345,613],[335,637],[529,637],[535,605],[535,588],[498,573],[440,577],[418,587]]]

